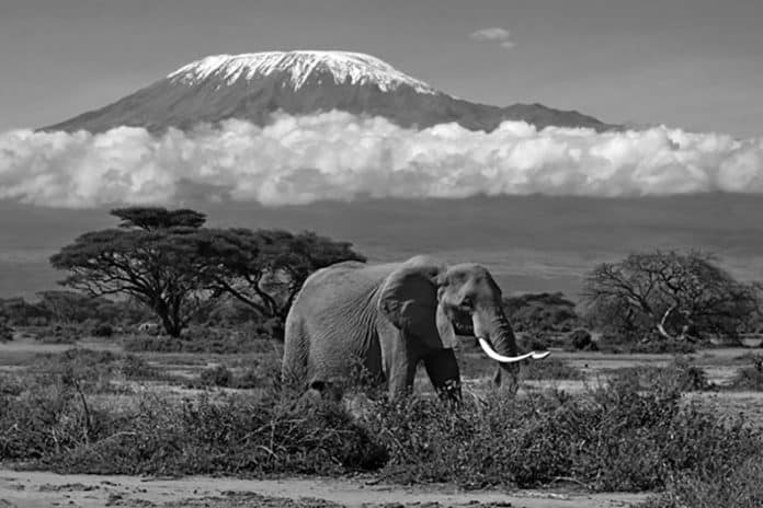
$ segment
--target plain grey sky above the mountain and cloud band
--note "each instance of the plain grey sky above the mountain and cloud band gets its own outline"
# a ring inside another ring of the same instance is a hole
[[[0,131],[220,53],[368,53],[447,93],[763,135],[759,0],[2,0]]]

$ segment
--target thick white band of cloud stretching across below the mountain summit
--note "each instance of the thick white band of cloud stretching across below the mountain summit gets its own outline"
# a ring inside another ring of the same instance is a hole
[[[489,134],[456,124],[413,130],[342,112],[162,136],[128,127],[0,134],[0,198],[86,208],[176,203],[200,190],[263,205],[358,195],[763,194],[763,138],[665,127],[538,131],[521,122]]]

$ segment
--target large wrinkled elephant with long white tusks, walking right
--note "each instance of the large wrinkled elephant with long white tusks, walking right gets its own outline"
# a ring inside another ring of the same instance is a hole
[[[517,355],[501,301],[488,269],[472,263],[446,266],[419,255],[321,268],[305,280],[286,316],[282,379],[337,396],[356,361],[396,400],[412,392],[423,362],[440,396],[460,400],[458,332],[476,337],[497,361],[496,384],[508,377],[504,385],[515,386],[517,362],[549,353]]]

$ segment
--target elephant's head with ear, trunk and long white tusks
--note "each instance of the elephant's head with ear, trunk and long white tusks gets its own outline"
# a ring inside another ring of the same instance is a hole
[[[480,265],[448,267],[428,256],[414,257],[387,278],[379,307],[392,323],[429,348],[452,348],[456,334],[474,335],[499,363],[498,384],[502,374],[509,374],[515,385],[519,361],[548,356],[547,351],[517,355],[501,289]]]

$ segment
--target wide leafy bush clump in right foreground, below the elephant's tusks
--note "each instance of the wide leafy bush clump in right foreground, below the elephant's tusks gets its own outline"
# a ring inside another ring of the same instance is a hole
[[[387,478],[465,487],[568,477],[595,490],[650,490],[763,452],[758,431],[680,400],[672,390],[639,393],[614,382],[585,396],[492,393],[458,411],[433,400],[382,403],[366,425],[389,450]]]

